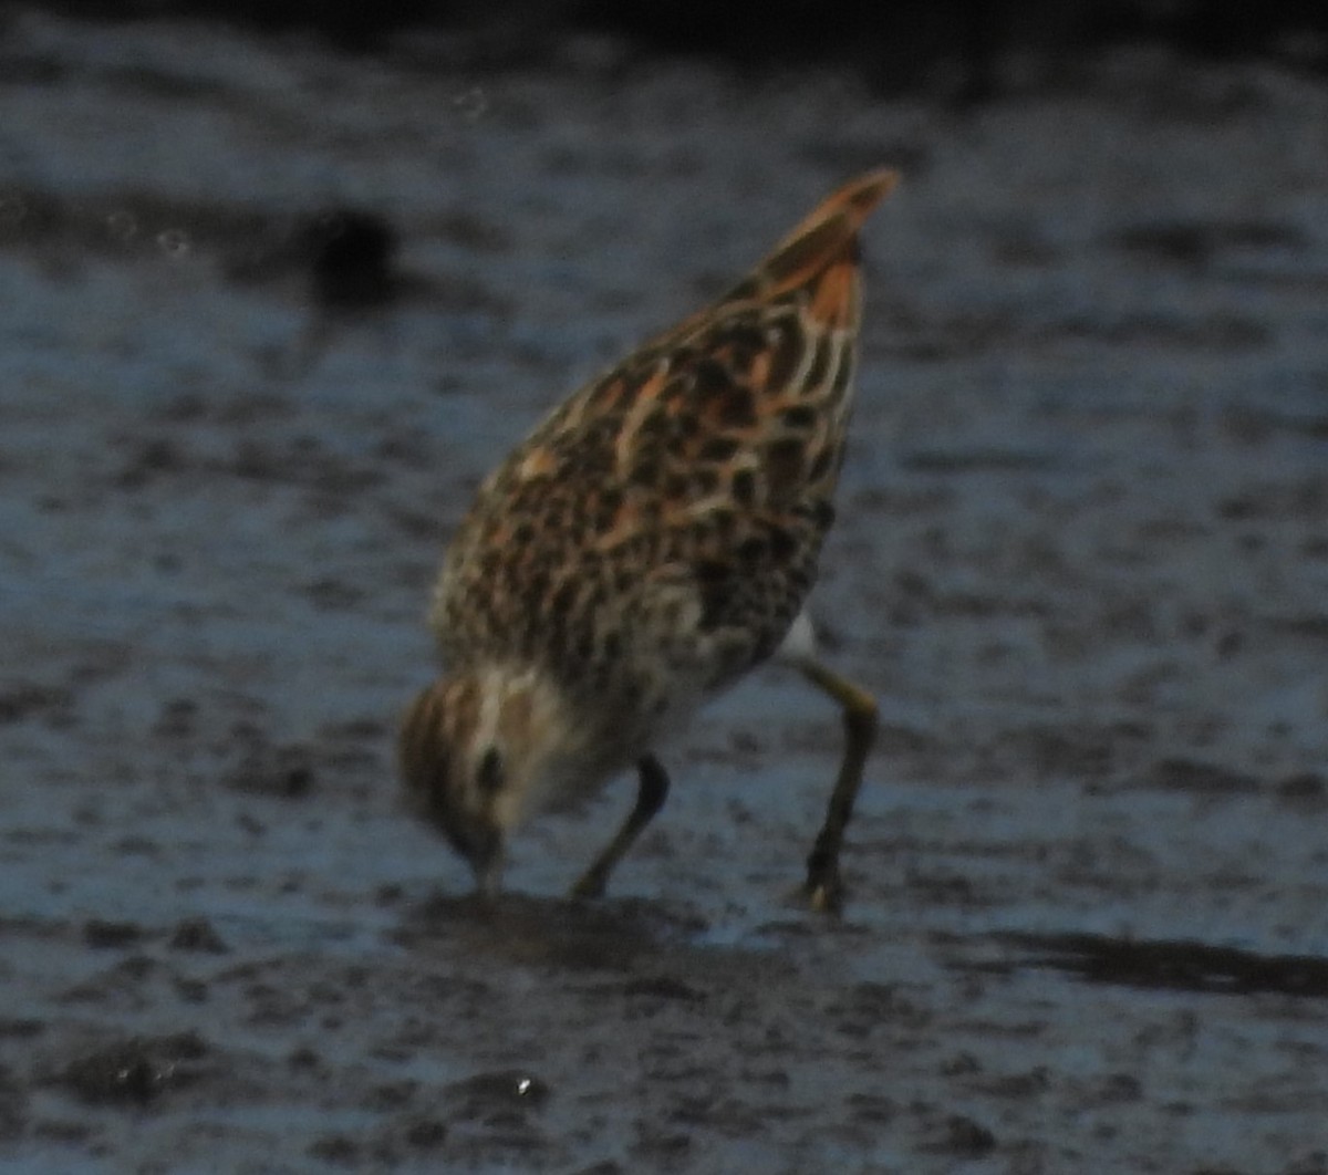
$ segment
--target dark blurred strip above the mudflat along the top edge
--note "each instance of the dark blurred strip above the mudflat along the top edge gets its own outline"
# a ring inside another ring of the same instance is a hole
[[[641,52],[753,68],[847,62],[887,93],[957,73],[952,84],[971,100],[1009,82],[1012,58],[1064,81],[1076,56],[1131,41],[1328,69],[1328,12],[1315,0],[60,0],[46,7],[98,19],[199,16],[255,29],[303,28],[355,52],[406,29],[462,31],[475,37],[478,56],[507,62],[547,54],[567,33],[606,32]]]

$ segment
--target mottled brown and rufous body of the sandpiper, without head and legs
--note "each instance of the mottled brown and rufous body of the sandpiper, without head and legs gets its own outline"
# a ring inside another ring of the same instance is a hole
[[[648,722],[780,644],[811,588],[853,400],[845,186],[717,303],[566,400],[483,483],[433,625],[450,663],[529,664]]]

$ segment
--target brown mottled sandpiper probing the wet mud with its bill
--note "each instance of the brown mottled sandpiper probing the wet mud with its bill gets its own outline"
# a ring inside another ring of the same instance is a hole
[[[481,483],[429,605],[445,672],[406,706],[406,802],[501,888],[527,819],[633,766],[636,801],[579,875],[610,875],[664,805],[660,749],[778,656],[841,708],[845,746],[801,899],[839,867],[876,704],[817,655],[805,611],[854,400],[859,230],[896,186],[843,185],[722,297],[579,388]]]

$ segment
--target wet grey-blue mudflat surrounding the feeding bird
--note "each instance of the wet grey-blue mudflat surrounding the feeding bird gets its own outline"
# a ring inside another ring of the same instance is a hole
[[[11,12],[0,1166],[1328,1171],[1324,90],[466,60]],[[880,163],[845,917],[785,901],[839,732],[774,670],[610,898],[625,781],[477,909],[390,770],[449,527]]]

